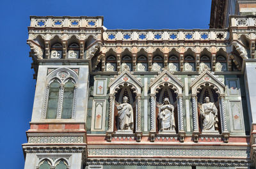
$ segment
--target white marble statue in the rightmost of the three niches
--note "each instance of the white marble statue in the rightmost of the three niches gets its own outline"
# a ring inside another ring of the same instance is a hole
[[[218,129],[218,110],[208,97],[205,98],[205,103],[200,107],[200,116],[202,118],[202,131],[216,131]]]

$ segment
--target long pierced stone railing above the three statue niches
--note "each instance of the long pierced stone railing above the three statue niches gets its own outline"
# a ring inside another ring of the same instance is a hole
[[[193,30],[107,30],[103,33],[104,40],[228,40],[228,31],[221,29]]]

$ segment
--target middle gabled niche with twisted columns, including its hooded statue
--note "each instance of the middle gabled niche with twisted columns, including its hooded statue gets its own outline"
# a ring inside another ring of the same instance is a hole
[[[184,142],[182,81],[166,68],[150,81],[150,142],[156,135]]]

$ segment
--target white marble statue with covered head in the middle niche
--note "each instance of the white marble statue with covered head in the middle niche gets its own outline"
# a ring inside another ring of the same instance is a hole
[[[175,131],[174,107],[168,98],[164,98],[163,104],[160,106],[160,114],[158,115],[160,129],[159,131]]]

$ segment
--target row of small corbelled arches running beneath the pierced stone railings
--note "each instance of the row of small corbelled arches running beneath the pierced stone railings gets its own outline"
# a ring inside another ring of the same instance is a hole
[[[94,71],[240,71],[243,59],[254,58],[253,41],[245,35],[227,47],[106,47],[95,35],[42,35],[28,40],[38,59],[92,59]]]

